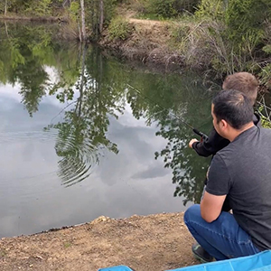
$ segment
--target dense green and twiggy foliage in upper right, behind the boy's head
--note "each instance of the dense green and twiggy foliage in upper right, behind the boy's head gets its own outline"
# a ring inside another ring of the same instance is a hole
[[[247,70],[271,87],[270,1],[201,0],[185,20],[172,31],[173,45],[187,66],[211,69],[220,78]]]

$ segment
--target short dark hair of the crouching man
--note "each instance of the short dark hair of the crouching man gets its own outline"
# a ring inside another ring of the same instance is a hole
[[[253,120],[254,113],[250,100],[237,90],[221,90],[213,98],[212,104],[213,114],[218,122],[224,119],[235,129],[239,130]]]

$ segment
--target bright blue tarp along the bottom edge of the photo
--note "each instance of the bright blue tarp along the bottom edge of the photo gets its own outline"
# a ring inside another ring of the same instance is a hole
[[[132,271],[132,269],[128,266],[113,266],[99,269],[98,271]],[[167,271],[271,271],[271,250],[266,250],[253,256],[237,257]]]

